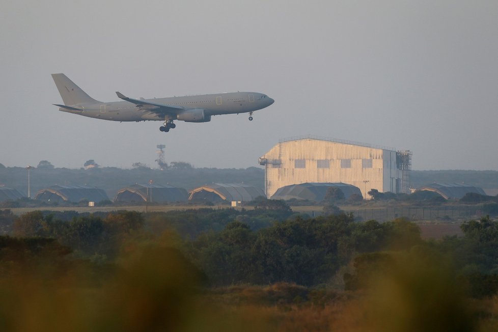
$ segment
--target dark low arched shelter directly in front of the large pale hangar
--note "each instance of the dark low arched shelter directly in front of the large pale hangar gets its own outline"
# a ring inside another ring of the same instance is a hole
[[[341,189],[344,193],[344,198],[349,198],[351,195],[356,194],[362,196],[362,191],[351,184],[347,183],[300,183],[286,185],[276,190],[271,197],[272,200],[309,200],[321,202],[325,198],[328,188],[336,187]],[[363,197],[363,196],[362,196]]]

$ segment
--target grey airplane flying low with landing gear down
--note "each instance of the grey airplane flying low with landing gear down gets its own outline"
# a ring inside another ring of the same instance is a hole
[[[176,127],[174,120],[185,122],[209,122],[211,116],[249,113],[271,105],[274,100],[257,92],[229,92],[210,95],[133,99],[116,92],[124,101],[101,102],[90,97],[64,74],[52,74],[64,105],[62,112],[111,121],[164,121],[160,131],[168,132]]]

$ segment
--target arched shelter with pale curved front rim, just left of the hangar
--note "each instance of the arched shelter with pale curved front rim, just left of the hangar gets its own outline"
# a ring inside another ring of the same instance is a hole
[[[243,183],[213,183],[190,191],[189,201],[252,201],[265,196],[263,189]]]

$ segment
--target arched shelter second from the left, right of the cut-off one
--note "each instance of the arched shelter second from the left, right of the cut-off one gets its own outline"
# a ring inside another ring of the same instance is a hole
[[[104,190],[85,185],[53,185],[36,193],[35,200],[44,202],[100,202],[108,200]]]

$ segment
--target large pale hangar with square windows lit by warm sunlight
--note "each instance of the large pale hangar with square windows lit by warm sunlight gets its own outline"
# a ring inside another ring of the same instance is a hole
[[[280,140],[259,158],[265,166],[265,193],[300,183],[347,183],[362,196],[380,192],[409,192],[411,152],[364,143],[298,136]]]

